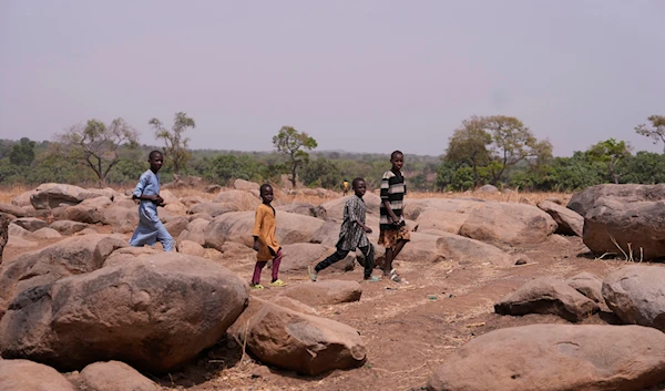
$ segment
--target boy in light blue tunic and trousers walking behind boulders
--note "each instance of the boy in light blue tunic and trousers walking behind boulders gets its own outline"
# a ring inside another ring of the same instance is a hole
[[[164,164],[164,155],[160,151],[153,151],[149,155],[150,169],[141,174],[136,188],[132,194],[133,199],[140,199],[139,226],[130,239],[130,245],[142,247],[154,246],[156,241],[162,244],[164,251],[173,251],[174,240],[164,224],[157,217],[157,206],[164,204],[160,196],[160,168]]]

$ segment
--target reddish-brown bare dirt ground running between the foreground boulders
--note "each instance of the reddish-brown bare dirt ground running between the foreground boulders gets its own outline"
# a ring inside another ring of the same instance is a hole
[[[320,316],[360,330],[368,348],[368,361],[362,368],[337,370],[315,378],[300,377],[260,366],[247,356],[241,360],[241,347],[224,340],[197,363],[171,377],[162,377],[160,382],[167,389],[192,391],[420,390],[432,370],[451,351],[475,336],[530,323],[566,323],[554,316],[502,317],[493,313],[493,303],[525,281],[542,276],[567,278],[581,271],[604,277],[625,265],[590,257],[580,238],[553,240],[518,250],[526,254],[531,263],[507,269],[452,261],[400,263],[398,268],[409,284],[364,282],[360,301],[317,307]],[[252,258],[222,257],[217,260],[249,279]],[[305,272],[284,274],[283,278],[289,284],[313,284]],[[361,270],[324,272],[319,278],[360,280]],[[277,289],[253,295],[269,300]],[[582,323],[613,321],[611,315],[603,313]]]

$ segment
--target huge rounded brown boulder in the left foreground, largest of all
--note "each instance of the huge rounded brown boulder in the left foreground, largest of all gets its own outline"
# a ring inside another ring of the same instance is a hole
[[[162,253],[21,292],[0,321],[0,349],[60,370],[117,360],[163,373],[215,344],[247,298],[228,269]]]

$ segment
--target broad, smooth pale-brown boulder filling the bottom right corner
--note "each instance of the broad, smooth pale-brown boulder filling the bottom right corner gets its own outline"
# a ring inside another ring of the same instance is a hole
[[[637,391],[665,380],[665,335],[640,326],[531,325],[475,337],[429,391]]]

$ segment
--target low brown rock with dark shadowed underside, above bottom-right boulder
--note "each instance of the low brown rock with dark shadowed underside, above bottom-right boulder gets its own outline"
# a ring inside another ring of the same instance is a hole
[[[529,281],[494,305],[494,311],[501,315],[552,313],[570,321],[580,321],[598,310],[597,302],[552,277]]]

